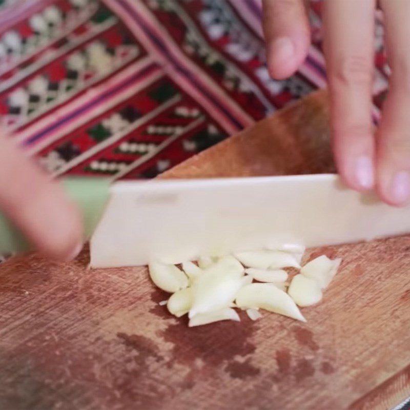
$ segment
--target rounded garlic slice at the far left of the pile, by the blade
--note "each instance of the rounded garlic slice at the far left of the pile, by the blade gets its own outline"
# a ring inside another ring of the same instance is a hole
[[[151,262],[148,265],[152,281],[163,291],[174,293],[188,286],[188,277],[175,265]]]

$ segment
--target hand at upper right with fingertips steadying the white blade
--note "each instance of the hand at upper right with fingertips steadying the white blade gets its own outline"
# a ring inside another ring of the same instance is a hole
[[[380,0],[392,74],[374,133],[373,0],[323,2],[324,52],[336,166],[357,191],[375,188],[385,202],[410,202],[410,1]],[[292,75],[310,47],[302,0],[264,0],[263,29],[272,77]]]

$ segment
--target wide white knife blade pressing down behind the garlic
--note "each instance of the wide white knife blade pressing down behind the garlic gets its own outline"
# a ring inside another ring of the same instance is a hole
[[[358,242],[410,232],[410,207],[345,188],[331,174],[121,181],[91,238],[91,267]]]

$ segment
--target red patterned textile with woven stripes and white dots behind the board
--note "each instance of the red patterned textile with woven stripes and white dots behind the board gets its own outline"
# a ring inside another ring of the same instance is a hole
[[[260,0],[0,0],[2,125],[53,175],[154,177],[325,86],[320,3],[310,14],[308,58],[275,81]]]

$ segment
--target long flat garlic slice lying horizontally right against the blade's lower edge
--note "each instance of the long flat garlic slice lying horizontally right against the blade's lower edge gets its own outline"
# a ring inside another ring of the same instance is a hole
[[[249,268],[281,269],[289,267],[300,269],[300,264],[296,257],[291,253],[283,251],[248,251],[237,253],[235,257]]]

